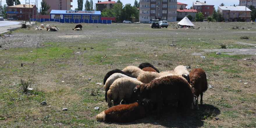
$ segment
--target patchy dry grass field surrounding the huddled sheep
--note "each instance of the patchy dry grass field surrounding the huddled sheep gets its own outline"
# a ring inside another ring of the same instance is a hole
[[[176,29],[177,22],[167,29],[82,24],[82,31],[72,31],[74,24],[46,24],[61,30],[19,29],[0,36],[0,127],[256,127],[256,24],[195,22],[200,29]],[[176,46],[169,46],[172,42]],[[103,83],[110,70],[143,62],[159,71],[202,67],[211,88],[200,110],[191,110],[187,119],[175,108],[163,108],[161,118],[149,114],[130,123],[97,122],[96,115],[108,107],[103,85],[96,83]],[[22,93],[21,78],[32,79],[34,90]]]

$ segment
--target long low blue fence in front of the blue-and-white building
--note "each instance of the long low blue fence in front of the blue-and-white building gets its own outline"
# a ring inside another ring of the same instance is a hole
[[[33,19],[30,18],[30,21],[37,21],[37,22],[46,22],[46,21],[53,21],[53,22],[61,22],[61,23],[94,23],[94,24],[111,24],[112,20],[106,19]]]

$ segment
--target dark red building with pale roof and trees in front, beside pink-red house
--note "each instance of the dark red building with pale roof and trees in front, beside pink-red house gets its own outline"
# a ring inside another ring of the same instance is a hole
[[[193,2],[193,9],[196,9],[198,13],[202,12],[204,17],[208,17],[212,14],[214,5],[207,4],[200,1]]]

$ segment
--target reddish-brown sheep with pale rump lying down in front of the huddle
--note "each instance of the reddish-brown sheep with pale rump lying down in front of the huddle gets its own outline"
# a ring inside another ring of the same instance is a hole
[[[100,122],[131,122],[146,116],[149,111],[150,101],[134,102],[131,104],[120,104],[113,106],[96,115],[96,120]]]

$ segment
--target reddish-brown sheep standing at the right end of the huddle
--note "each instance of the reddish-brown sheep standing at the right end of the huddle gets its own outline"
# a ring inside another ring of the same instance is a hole
[[[200,104],[202,105],[203,104],[203,93],[208,88],[205,71],[202,68],[194,68],[190,72],[189,78],[190,78],[190,84],[192,86],[192,92],[197,97],[199,97],[199,95],[201,96]],[[196,100],[196,109],[199,109],[198,99]]]

